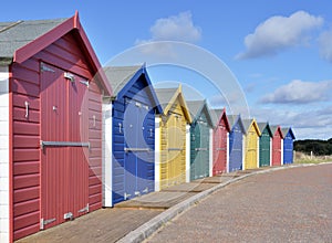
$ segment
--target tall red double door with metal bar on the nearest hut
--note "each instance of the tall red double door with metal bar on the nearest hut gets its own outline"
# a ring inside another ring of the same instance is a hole
[[[84,78],[41,64],[41,229],[89,211],[86,92]]]

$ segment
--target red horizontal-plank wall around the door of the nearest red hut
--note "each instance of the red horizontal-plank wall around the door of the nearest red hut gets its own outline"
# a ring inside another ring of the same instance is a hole
[[[13,240],[40,230],[41,219],[41,84],[40,62],[80,76],[92,78],[86,61],[73,32],[23,62],[11,66],[12,93],[12,230]],[[102,95],[98,86],[89,87],[89,203],[90,211],[102,207]],[[61,97],[59,97],[61,98]],[[29,118],[24,103],[29,102]]]

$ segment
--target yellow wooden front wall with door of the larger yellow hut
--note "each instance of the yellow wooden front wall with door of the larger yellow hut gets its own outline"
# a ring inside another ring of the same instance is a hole
[[[186,117],[173,104],[160,123],[160,189],[186,182]]]

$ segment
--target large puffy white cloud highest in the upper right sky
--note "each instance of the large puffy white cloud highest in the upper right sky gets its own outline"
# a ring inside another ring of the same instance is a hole
[[[271,17],[259,24],[255,32],[245,39],[247,51],[237,59],[253,59],[276,55],[278,52],[300,44],[305,44],[309,32],[321,27],[323,18],[298,11],[290,17]]]

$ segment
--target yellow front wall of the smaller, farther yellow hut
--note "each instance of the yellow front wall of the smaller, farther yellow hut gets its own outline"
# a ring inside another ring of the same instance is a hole
[[[259,136],[252,123],[246,135],[246,157],[245,157],[245,165],[243,165],[245,170],[257,168],[258,137]]]

